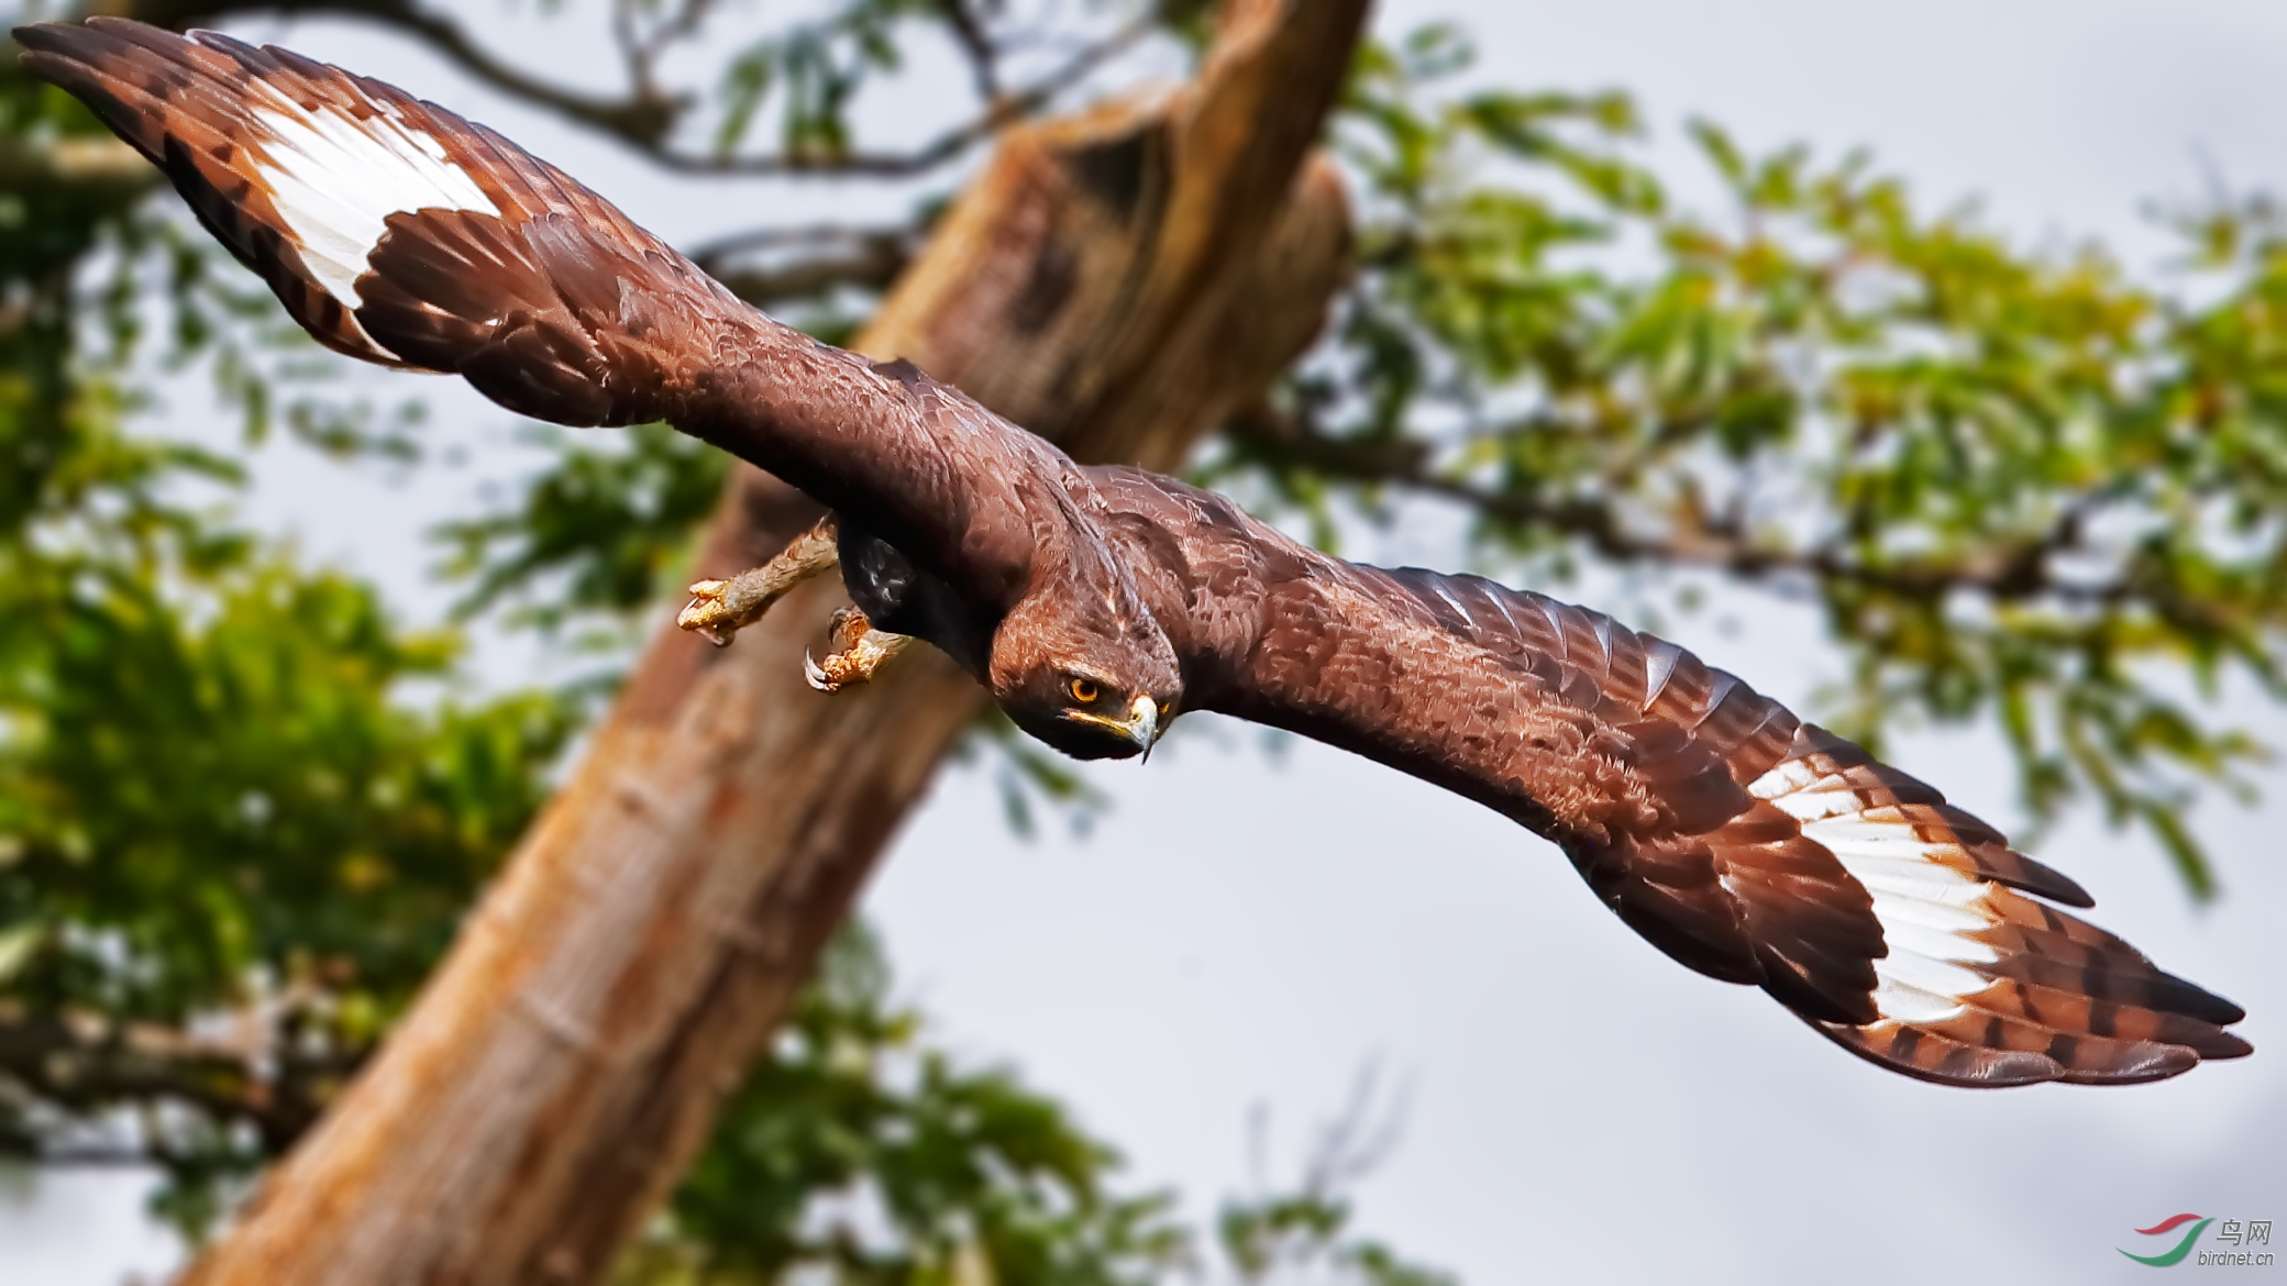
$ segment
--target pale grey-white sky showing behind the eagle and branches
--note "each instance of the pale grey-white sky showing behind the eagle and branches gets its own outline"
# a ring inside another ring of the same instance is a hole
[[[1981,197],[2026,238],[2102,236],[2150,261],[2164,243],[2145,201],[2212,176],[2287,190],[2276,0],[1407,0],[1384,5],[1381,27],[1434,16],[1477,37],[1480,78],[1637,92],[1667,156],[1681,158],[1686,114],[1754,149],[1866,144],[1923,201]],[[533,66],[576,76],[592,57],[569,25],[563,48],[515,30]],[[832,183],[663,181],[361,27],[240,32],[467,108],[675,240],[860,199]],[[942,89],[922,78],[892,108],[942,119]],[[425,391],[432,432],[471,444],[457,474],[425,471],[416,492],[272,451],[252,508],[435,611],[419,529],[531,458],[508,446],[501,412],[444,382]],[[204,414],[197,396],[178,405]],[[1445,533],[1423,522],[1352,554],[1452,563]],[[1736,629],[1718,613],[1667,627],[1788,700],[1832,673],[1809,613],[1750,595],[1722,606]],[[2287,741],[2287,719],[2269,732]],[[1256,1105],[1267,1176],[1292,1178],[1313,1124],[1374,1064],[1407,1110],[1358,1192],[1363,1224],[1473,1286],[2111,1281],[2145,1272],[2113,1252],[2143,1249],[2129,1229],[2177,1210],[2287,1220],[2287,947],[2273,929],[2287,805],[2200,815],[2225,881],[2209,911],[2147,842],[2088,817],[2042,849],[2095,892],[2097,922],[2244,1002],[2257,1057],[2138,1089],[1978,1094],[1859,1064],[1761,993],[1670,963],[1601,913],[1555,849],[1487,810],[1310,744],[1276,762],[1253,746],[1224,725],[1148,769],[1093,771],[1116,808],[1084,842],[1057,824],[1031,844],[1009,838],[990,783],[956,771],[867,897],[940,1034],[1073,1103],[1125,1149],[1139,1188],[1176,1185],[1194,1210],[1249,1190]],[[1987,739],[1921,737],[1898,760],[2015,817]],[[121,1176],[0,1192],[0,1281],[110,1284],[167,1263],[140,1192]]]

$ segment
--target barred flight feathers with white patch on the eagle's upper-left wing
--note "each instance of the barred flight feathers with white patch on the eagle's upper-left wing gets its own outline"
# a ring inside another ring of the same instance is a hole
[[[462,295],[499,302],[494,316],[526,311],[515,332],[588,348],[583,327],[567,325],[563,300],[537,279],[535,256],[512,245],[533,220],[576,222],[585,249],[613,265],[640,263],[645,279],[684,270],[579,183],[393,85],[290,50],[121,18],[21,27],[16,41],[32,73],[82,98],[167,172],[199,222],[270,284],[286,311],[350,357],[460,371],[485,348],[469,334],[476,309],[455,307]],[[398,240],[421,243],[421,254],[400,272],[373,277],[368,311],[359,279],[391,240],[391,220],[414,224]],[[441,275],[453,279],[435,279]],[[677,295],[704,293],[702,281],[656,284]],[[508,348],[531,346],[501,339]],[[480,387],[496,364],[499,355],[476,362]],[[519,410],[567,423],[606,423],[636,410],[613,407],[601,380],[585,378],[592,373],[572,373],[558,398],[531,396],[547,382],[537,373],[524,375],[526,389],[501,391],[531,403]],[[624,398],[633,400],[640,389],[627,384]]]

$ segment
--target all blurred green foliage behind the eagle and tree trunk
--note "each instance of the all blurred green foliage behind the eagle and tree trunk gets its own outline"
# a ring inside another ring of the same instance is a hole
[[[1210,11],[839,0],[732,32],[704,2],[633,0],[613,9],[624,94],[599,96],[409,0],[263,9],[391,25],[668,167],[880,176],[933,172],[1137,41],[1196,50]],[[714,98],[654,80],[688,48],[723,55]],[[864,89],[926,57],[967,71],[979,114],[864,146]],[[2182,808],[2262,753],[2216,696],[2282,696],[2280,213],[2186,213],[2145,279],[1917,211],[1864,158],[1754,156],[1699,124],[1704,176],[1681,181],[1720,195],[1708,215],[1647,162],[1626,96],[1457,89],[1468,59],[1443,27],[1361,57],[1333,135],[1361,270],[1203,476],[1329,540],[1427,497],[1475,517],[1482,563],[1537,581],[1816,602],[1850,666],[1827,700],[1843,728],[1990,719],[2035,819],[2090,794],[2207,895]],[[677,151],[693,133],[711,149]],[[624,657],[723,462],[661,428],[547,432],[521,497],[435,533],[462,611],[407,629],[231,501],[256,448],[419,478],[419,407],[332,389],[338,364],[156,188],[0,64],[0,1151],[156,1162],[197,1236],[403,1009],[592,714],[572,689],[473,691],[467,632]],[[791,263],[757,279],[839,336],[940,204],[903,231],[759,238]],[[153,428],[153,389],[190,371],[238,442]],[[1093,808],[1006,730],[970,753],[1018,828]],[[620,1277],[1445,1281],[1352,1233],[1340,1149],[1194,1233],[1169,1199],[1121,1194],[1054,1101],[926,1034],[878,950],[839,943]]]

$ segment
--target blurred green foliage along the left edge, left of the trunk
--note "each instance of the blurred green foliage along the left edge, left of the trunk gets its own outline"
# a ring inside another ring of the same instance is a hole
[[[265,430],[222,339],[252,295],[14,59],[0,135],[0,1144],[153,1156],[199,1227],[428,975],[574,721],[551,693],[409,705],[448,689],[451,636],[238,531],[233,453],[130,430],[153,334]]]

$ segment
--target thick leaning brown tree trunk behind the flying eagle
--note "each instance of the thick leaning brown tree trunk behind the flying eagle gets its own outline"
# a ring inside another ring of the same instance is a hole
[[[1155,105],[1013,133],[858,343],[1082,460],[1169,467],[1317,332],[1347,211],[1310,158],[1365,0],[1233,0]],[[743,471],[723,574],[816,510]],[[414,1011],[190,1272],[592,1281],[682,1174],[981,691],[915,650],[842,696],[839,586],[730,650],[663,629]]]

